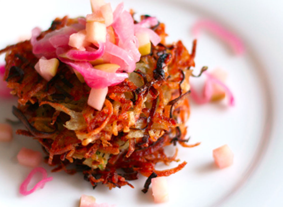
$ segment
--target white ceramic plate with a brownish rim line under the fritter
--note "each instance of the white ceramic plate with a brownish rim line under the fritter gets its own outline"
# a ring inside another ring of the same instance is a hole
[[[138,14],[158,17],[166,23],[168,42],[181,39],[188,49],[193,38],[190,27],[200,18],[218,21],[238,34],[246,46],[243,56],[233,55],[221,41],[203,33],[198,40],[195,59],[196,70],[207,65],[228,72],[227,82],[235,95],[235,107],[226,107],[226,102],[192,104],[190,142],[202,143],[189,149],[179,146],[178,158],[188,164],[168,177],[170,202],[166,204],[154,204],[151,191],[141,192],[146,180],[142,176],[131,182],[135,189],[124,186],[109,191],[104,186],[92,190],[82,174],[70,176],[64,172],[53,173],[54,180],[44,189],[23,197],[18,188],[31,169],[17,164],[15,156],[22,146],[37,150],[40,146],[28,137],[15,136],[12,143],[0,143],[0,206],[75,207],[82,194],[95,196],[98,203],[117,206],[281,206],[282,3],[242,0],[124,2],[126,8],[134,8]],[[117,2],[113,1],[112,7],[114,5]],[[0,8],[0,48],[16,42],[20,35],[29,35],[35,26],[47,29],[57,16],[76,17],[87,13],[90,13],[88,0],[7,1]],[[13,118],[11,105],[14,103],[14,100],[1,100],[1,122]],[[234,164],[218,170],[213,165],[212,150],[226,143],[235,154]],[[172,163],[169,167],[176,165]],[[42,166],[51,170],[47,165]]]

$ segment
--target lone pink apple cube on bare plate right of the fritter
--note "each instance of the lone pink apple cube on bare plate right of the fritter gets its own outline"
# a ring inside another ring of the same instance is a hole
[[[223,145],[213,150],[213,158],[215,164],[222,169],[233,164],[234,154],[228,145]]]

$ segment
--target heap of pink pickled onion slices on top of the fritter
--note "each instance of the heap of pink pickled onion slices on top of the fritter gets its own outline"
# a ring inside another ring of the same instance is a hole
[[[62,62],[80,72],[87,85],[91,88],[100,89],[119,84],[128,77],[128,74],[124,72],[134,71],[136,62],[141,57],[138,50],[138,40],[134,35],[135,30],[149,33],[150,40],[154,45],[160,42],[160,37],[153,30],[146,28],[158,24],[156,18],[149,17],[141,21],[139,25],[134,25],[132,15],[127,11],[123,11],[123,9],[124,5],[120,3],[113,12],[113,23],[111,26],[117,38],[116,44],[107,41],[105,44],[99,44],[96,51],[72,49],[68,45],[70,35],[85,29],[85,18],[78,18],[79,23],[47,33],[40,40],[37,40],[37,37],[41,34],[40,29],[33,29],[31,38],[33,53],[38,58],[42,56],[47,59],[59,58]],[[61,52],[59,53],[58,51]],[[86,62],[94,61],[101,57],[104,62],[120,65],[118,73],[108,73],[94,69],[89,62]]]

